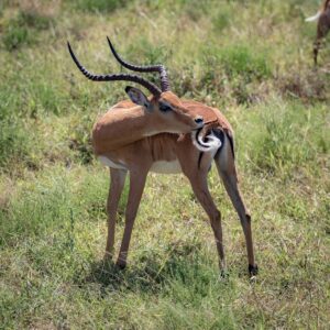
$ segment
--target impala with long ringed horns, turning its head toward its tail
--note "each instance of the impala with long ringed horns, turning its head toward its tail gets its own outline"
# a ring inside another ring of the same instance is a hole
[[[110,189],[107,201],[108,238],[105,260],[112,260],[114,231],[119,200],[130,172],[130,188],[125,208],[124,233],[117,266],[124,268],[133,224],[148,172],[183,173],[207,212],[213,230],[221,274],[226,274],[222,244],[221,213],[208,188],[207,176],[212,161],[222,178],[227,193],[239,215],[243,228],[249,273],[257,274],[254,261],[251,216],[238,186],[234,163],[233,130],[224,116],[216,108],[194,100],[185,100],[170,91],[163,65],[138,66],[125,62],[114,50],[116,59],[125,68],[140,73],[158,73],[161,89],[132,75],[95,75],[77,59],[70,45],[69,53],[78,69],[94,81],[134,81],[152,94],[147,98],[140,89],[127,87],[130,100],[114,105],[94,125],[92,146],[98,160],[110,168]]]

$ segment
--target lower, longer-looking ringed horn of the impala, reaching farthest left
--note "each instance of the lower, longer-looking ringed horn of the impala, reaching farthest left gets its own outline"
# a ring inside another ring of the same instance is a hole
[[[146,89],[150,90],[151,94],[153,94],[155,97],[160,97],[162,94],[162,90],[154,84],[150,82],[148,80],[135,76],[135,75],[127,75],[127,74],[119,74],[119,75],[95,75],[90,72],[88,72],[78,61],[76,55],[74,54],[72,46],[69,42],[67,43],[69,53],[77,65],[78,69],[84,74],[85,77],[92,81],[116,81],[116,80],[124,80],[124,81],[133,81],[142,85]]]

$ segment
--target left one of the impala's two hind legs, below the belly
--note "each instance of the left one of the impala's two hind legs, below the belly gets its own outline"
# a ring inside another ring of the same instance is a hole
[[[198,173],[195,173],[194,175],[189,176],[189,180],[198,201],[200,202],[200,205],[202,206],[210,219],[219,255],[219,266],[221,275],[224,275],[227,266],[222,244],[221,213],[217,209],[213,199],[210,195],[207,183],[207,172],[199,170]]]

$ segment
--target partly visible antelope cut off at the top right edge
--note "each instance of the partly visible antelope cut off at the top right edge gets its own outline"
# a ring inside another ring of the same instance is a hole
[[[315,65],[318,64],[318,53],[321,47],[321,42],[327,36],[330,30],[330,0],[324,0],[317,14],[306,19],[306,22],[312,22],[317,20],[318,20],[317,36],[314,43]]]

